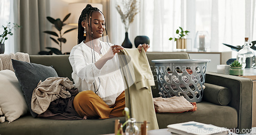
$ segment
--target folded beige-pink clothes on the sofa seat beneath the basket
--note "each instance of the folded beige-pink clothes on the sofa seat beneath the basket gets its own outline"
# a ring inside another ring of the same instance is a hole
[[[155,109],[158,113],[177,113],[193,109],[194,106],[190,104],[183,96],[170,98],[153,98]]]

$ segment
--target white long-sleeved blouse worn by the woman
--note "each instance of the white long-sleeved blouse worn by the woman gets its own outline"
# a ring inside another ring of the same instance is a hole
[[[104,55],[113,44],[102,42],[101,54]],[[77,44],[71,50],[69,61],[73,69],[72,78],[74,86],[78,91],[93,91],[112,106],[116,98],[124,91],[123,78],[119,69],[117,54],[108,60],[99,70],[95,66],[96,61],[101,57],[97,52],[88,47],[84,42]],[[95,85],[95,87],[94,87]],[[98,89],[98,91],[97,91]]]

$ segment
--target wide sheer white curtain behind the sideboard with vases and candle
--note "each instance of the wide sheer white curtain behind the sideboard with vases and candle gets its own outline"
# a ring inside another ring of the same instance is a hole
[[[115,6],[110,1],[111,42],[121,44],[124,26]],[[176,42],[169,41],[181,26],[190,31],[189,50],[194,48],[196,32],[208,31],[210,51],[231,51],[222,43],[242,46],[244,37],[256,40],[255,0],[140,0],[140,12],[129,29],[129,39],[134,43],[137,35],[150,37],[148,51],[175,51]],[[254,32],[254,33],[253,33]],[[190,44],[191,43],[191,44]]]

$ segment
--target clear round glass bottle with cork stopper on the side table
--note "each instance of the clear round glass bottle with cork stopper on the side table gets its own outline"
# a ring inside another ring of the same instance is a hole
[[[252,43],[248,42],[248,39],[248,37],[245,37],[244,46],[241,50],[239,50],[237,55],[237,60],[243,64],[243,69],[254,68],[255,66],[254,50],[250,48]]]

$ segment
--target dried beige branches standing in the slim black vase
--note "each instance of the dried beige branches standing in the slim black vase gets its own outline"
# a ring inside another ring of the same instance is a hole
[[[123,0],[120,5],[116,5],[116,9],[121,16],[125,32],[127,32],[134,16],[139,13],[139,2],[137,0]]]

